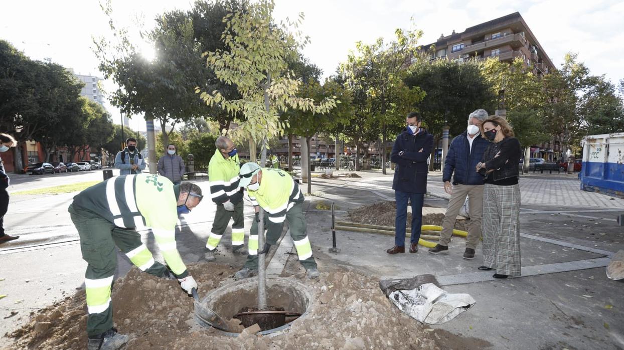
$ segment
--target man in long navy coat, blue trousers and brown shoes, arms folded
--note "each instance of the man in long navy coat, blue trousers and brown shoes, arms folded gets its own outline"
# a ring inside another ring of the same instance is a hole
[[[421,128],[422,116],[412,112],[406,117],[406,128],[396,137],[390,159],[396,163],[392,190],[396,198],[394,246],[388,254],[405,253],[407,200],[412,203],[412,236],[410,253],[418,251],[421,238],[422,205],[427,193],[427,158],[433,148],[433,135]]]

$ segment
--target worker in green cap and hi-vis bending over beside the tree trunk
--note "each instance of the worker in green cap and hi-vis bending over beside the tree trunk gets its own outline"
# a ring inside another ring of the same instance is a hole
[[[236,280],[255,275],[258,270],[258,254],[265,254],[281,236],[284,221],[288,221],[290,235],[295,242],[299,262],[306,269],[308,278],[318,278],[316,261],[312,256],[312,246],[306,235],[306,220],[303,215],[303,193],[293,178],[281,169],[260,168],[256,163],[245,163],[240,168],[239,185],[246,188],[251,204],[256,210],[256,218],[251,223],[249,235],[249,255],[245,267],[234,275]],[[258,251],[259,211],[262,207],[266,228],[265,246]]]

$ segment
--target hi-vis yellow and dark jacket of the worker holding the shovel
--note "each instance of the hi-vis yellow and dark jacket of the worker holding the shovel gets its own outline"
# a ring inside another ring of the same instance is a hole
[[[166,177],[122,175],[78,193],[73,207],[95,213],[120,228],[151,227],[167,265],[178,278],[184,278],[187,267],[175,243],[178,195]]]

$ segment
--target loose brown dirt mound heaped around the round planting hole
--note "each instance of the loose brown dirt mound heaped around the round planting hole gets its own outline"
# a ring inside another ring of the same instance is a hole
[[[230,266],[207,263],[188,268],[200,284],[200,295],[229,283],[234,272]],[[195,324],[192,298],[175,281],[133,268],[115,281],[115,327],[132,335],[127,348],[133,350],[441,348],[436,342],[444,333],[392,306],[377,280],[346,268],[332,270],[318,280],[305,280],[315,299],[306,317],[294,321],[290,329],[271,336],[243,332],[231,338]],[[29,324],[6,336],[15,340],[11,349],[84,349],[86,318],[84,291],[78,291],[33,313]]]

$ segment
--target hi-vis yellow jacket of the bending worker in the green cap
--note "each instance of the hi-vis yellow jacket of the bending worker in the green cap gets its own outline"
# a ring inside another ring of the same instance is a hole
[[[290,174],[274,168],[262,168],[260,188],[247,193],[251,204],[260,205],[268,215],[267,241],[276,241],[280,238],[286,212],[305,200],[299,185]]]

